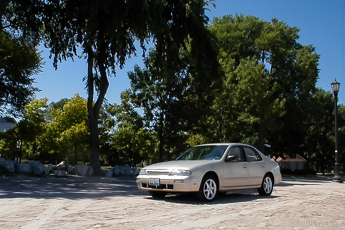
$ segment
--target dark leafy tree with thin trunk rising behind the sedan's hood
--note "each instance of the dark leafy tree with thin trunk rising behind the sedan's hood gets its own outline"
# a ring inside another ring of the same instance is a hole
[[[188,120],[186,118],[190,114],[184,110],[187,110],[185,98],[188,96],[191,80],[185,64],[181,66],[161,61],[162,65],[157,68],[155,59],[152,58],[155,51],[152,50],[150,56],[145,60],[144,69],[135,66],[134,71],[128,73],[131,80],[128,92],[136,108],[144,110],[145,127],[158,142],[156,161],[161,162],[171,157],[166,151],[172,147],[172,143],[177,146],[177,143],[185,142],[179,140],[179,132],[184,129]]]

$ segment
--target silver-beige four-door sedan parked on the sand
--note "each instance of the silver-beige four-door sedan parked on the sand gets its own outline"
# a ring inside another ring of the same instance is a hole
[[[282,180],[277,162],[256,148],[239,143],[202,144],[191,147],[176,160],[146,166],[137,177],[139,189],[152,197],[167,193],[195,192],[200,201],[211,201],[218,193],[254,189],[269,196]]]

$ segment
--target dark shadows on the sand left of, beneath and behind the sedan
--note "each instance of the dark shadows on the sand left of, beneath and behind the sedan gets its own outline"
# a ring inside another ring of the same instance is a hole
[[[283,178],[275,186],[303,186],[332,182],[332,178]],[[65,199],[102,199],[116,196],[146,196],[154,199],[145,190],[137,188],[135,177],[33,177],[33,176],[2,176],[0,177],[0,199],[3,198],[65,198]],[[263,197],[256,189],[235,190],[218,196],[215,203],[246,202],[256,199],[275,199],[277,196]],[[194,193],[168,194],[167,202],[199,204]]]

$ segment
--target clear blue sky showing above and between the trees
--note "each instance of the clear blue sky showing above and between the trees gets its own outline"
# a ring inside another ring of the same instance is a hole
[[[319,80],[316,84],[325,90],[331,90],[330,83],[341,82],[339,103],[345,103],[345,1],[344,0],[217,0],[216,9],[209,6],[206,11],[210,20],[225,14],[243,13],[253,15],[269,21],[277,18],[285,21],[289,26],[300,28],[300,39],[303,45],[313,44],[316,52],[321,55],[319,60]],[[52,67],[52,60],[48,58],[49,50],[43,50],[46,65],[43,72],[35,76],[35,87],[41,89],[37,98],[47,97],[51,101],[71,98],[75,93],[86,98],[85,83],[82,78],[87,73],[86,60],[68,60],[59,64],[57,71]],[[141,51],[139,58],[127,61],[124,69],[117,69],[116,77],[109,78],[109,89],[106,98],[110,103],[120,102],[120,93],[129,88],[127,71],[138,63],[141,65]]]

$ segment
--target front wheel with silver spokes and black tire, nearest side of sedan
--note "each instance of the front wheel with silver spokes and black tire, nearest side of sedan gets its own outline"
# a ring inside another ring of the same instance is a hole
[[[199,201],[213,201],[218,194],[218,182],[215,177],[206,175],[201,180],[199,191],[196,193]]]

